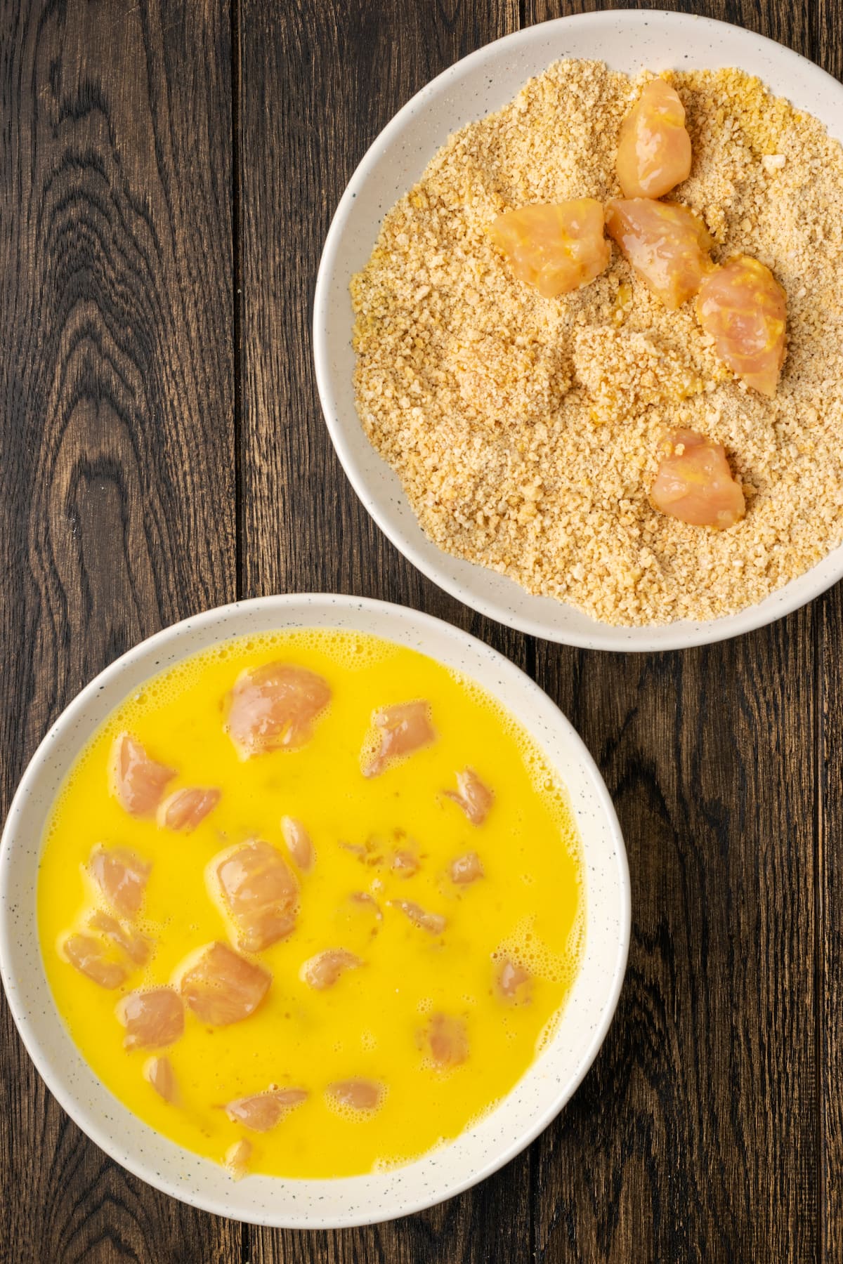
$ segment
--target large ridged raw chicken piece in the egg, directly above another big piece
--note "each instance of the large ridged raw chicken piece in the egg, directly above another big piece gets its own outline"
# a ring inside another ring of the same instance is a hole
[[[276,847],[255,838],[211,863],[244,952],[263,952],[291,933],[298,885]]]

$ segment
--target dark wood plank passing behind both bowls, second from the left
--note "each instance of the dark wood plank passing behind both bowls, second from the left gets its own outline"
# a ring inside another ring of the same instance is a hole
[[[528,641],[426,581],[373,527],[327,441],[313,380],[313,283],[336,202],[396,110],[458,57],[514,29],[494,10],[425,0],[270,8],[239,33],[243,592],[331,590],[423,608],[522,666]],[[399,51],[399,52],[397,52]],[[343,1234],[255,1230],[255,1264],[530,1258],[530,1158],[421,1216]]]

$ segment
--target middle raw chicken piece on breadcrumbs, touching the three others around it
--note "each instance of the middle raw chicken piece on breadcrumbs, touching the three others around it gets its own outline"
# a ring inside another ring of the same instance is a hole
[[[665,307],[693,298],[713,264],[713,241],[701,219],[679,202],[616,198],[605,209],[609,236]]]

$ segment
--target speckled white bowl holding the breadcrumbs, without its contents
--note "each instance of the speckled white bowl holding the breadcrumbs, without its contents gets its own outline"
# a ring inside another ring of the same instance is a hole
[[[636,73],[738,66],[816,115],[843,139],[843,87],[811,62],[761,35],[681,13],[604,11],[519,30],[451,66],[384,128],[334,216],[316,282],[313,354],[327,428],[351,485],[406,557],[483,614],[533,636],[594,650],[675,650],[723,641],[804,605],[843,575],[843,547],[738,614],[642,628],[598,623],[571,605],[533,597],[512,579],[442,552],[422,532],[397,475],[370,446],[354,407],[349,282],[365,264],[383,216],[422,174],[450,133],[500,109],[559,57],[600,58]]]

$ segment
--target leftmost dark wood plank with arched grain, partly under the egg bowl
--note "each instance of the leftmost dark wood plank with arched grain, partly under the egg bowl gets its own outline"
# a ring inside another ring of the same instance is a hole
[[[163,623],[235,593],[225,5],[4,4],[0,793]],[[3,1018],[0,1256],[240,1260],[240,1226],[129,1177]]]

